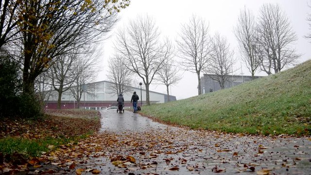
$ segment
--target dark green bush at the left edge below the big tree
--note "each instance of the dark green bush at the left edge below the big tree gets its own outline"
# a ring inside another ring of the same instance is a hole
[[[42,116],[40,102],[34,95],[22,93],[18,63],[5,51],[0,51],[0,118],[37,118]]]

